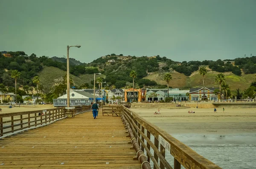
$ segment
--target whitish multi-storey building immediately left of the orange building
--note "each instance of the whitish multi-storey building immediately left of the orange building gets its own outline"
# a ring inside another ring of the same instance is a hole
[[[122,102],[125,100],[123,89],[108,90],[108,101],[111,103]]]

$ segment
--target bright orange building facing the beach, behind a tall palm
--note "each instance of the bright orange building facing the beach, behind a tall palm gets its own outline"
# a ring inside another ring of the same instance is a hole
[[[134,91],[134,92],[133,92]],[[146,89],[125,89],[125,102],[143,102],[146,98]]]

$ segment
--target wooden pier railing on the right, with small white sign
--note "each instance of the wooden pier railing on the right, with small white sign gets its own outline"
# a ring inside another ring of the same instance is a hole
[[[146,152],[147,160],[154,169],[173,169],[172,166],[180,169],[181,165],[186,169],[221,169],[137,113],[124,106],[123,110],[137,142],[142,151]],[[172,157],[174,163],[167,161],[167,156]]]

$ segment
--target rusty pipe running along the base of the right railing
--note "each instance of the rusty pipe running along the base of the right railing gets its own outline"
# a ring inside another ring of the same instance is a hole
[[[125,123],[125,126],[127,127],[128,135],[131,137],[131,143],[137,152],[137,158],[141,163],[142,169],[151,169],[150,163],[147,161],[147,158],[144,154],[144,152],[140,149],[140,144],[137,142],[137,139],[134,137],[134,134],[132,132],[131,126],[128,123],[128,121],[125,119],[125,116],[121,116],[123,122]]]

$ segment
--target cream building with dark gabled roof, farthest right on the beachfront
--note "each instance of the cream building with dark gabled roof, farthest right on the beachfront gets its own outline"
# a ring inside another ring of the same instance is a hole
[[[214,94],[214,90],[219,88],[207,88],[207,87],[201,87],[201,88],[190,88],[189,89],[189,100],[197,101],[197,100],[212,100],[212,101],[218,101],[218,95]]]

